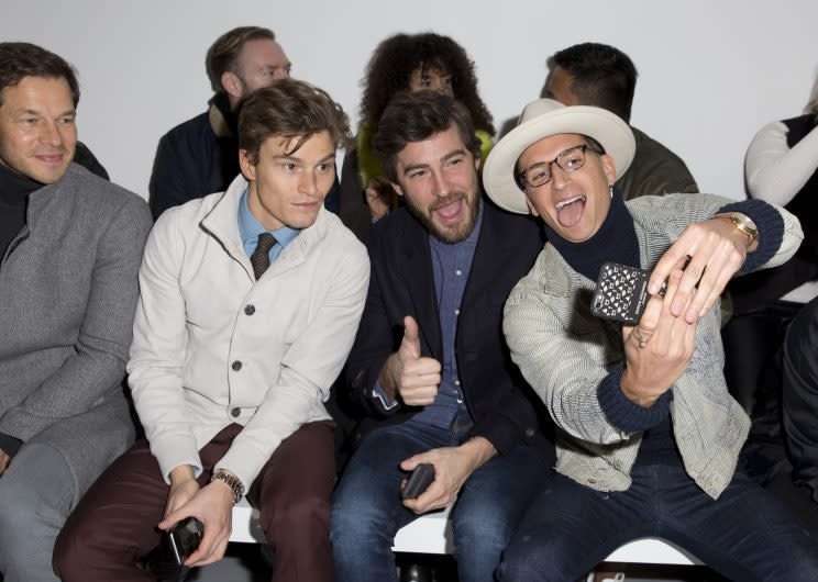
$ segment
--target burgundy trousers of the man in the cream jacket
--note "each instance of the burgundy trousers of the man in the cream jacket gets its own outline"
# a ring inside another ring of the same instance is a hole
[[[284,439],[247,492],[275,548],[274,582],[331,582],[330,497],[334,423],[301,426]],[[231,424],[199,451],[200,485],[242,427]],[[57,538],[54,571],[64,582],[153,580],[136,561],[159,542],[169,486],[146,441],[113,461],[85,494]]]

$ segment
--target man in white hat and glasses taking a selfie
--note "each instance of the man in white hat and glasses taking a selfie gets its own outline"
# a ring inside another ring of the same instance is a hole
[[[499,577],[575,580],[621,544],[659,536],[733,580],[816,580],[815,540],[737,471],[750,421],[727,391],[719,336],[727,281],[787,260],[798,221],[706,194],[626,203],[611,184],[633,150],[616,115],[541,99],[486,160],[488,195],[540,216],[548,234],[509,295],[504,332],[555,421],[560,473]],[[635,326],[592,314],[607,261],[652,271]]]

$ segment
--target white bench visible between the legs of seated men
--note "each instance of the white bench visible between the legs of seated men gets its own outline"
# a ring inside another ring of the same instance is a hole
[[[427,514],[401,527],[395,536],[393,551],[412,553],[452,553],[452,527],[449,511]],[[233,507],[233,533],[230,541],[264,544],[258,512],[246,502]],[[642,538],[617,548],[606,562],[654,563],[672,566],[700,564],[693,555],[659,538]]]

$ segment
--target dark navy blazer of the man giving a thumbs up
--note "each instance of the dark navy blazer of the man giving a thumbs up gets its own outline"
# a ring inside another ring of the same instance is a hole
[[[487,438],[501,454],[524,444],[553,459],[548,412],[511,361],[502,335],[502,307],[542,249],[542,230],[532,217],[501,211],[485,197],[483,204],[455,340],[473,436]],[[422,355],[443,361],[428,231],[407,209],[398,209],[369,231],[366,246],[369,290],[346,366],[349,394],[365,415],[357,443],[375,426],[404,422],[420,410],[401,403],[384,412],[372,396],[380,368],[400,345],[406,315],[418,322]]]

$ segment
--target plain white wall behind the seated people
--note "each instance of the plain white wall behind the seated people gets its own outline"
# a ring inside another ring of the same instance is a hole
[[[703,191],[743,197],[758,128],[802,112],[818,75],[815,0],[3,0],[0,38],[29,41],[79,70],[80,139],[113,181],[147,195],[158,138],[204,111],[204,53],[237,25],[273,29],[292,75],[327,89],[357,123],[374,46],[432,30],[477,65],[499,127],[539,96],[549,55],[596,41],[639,69],[631,122],[675,150]]]

